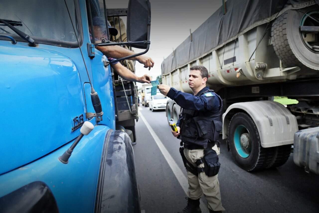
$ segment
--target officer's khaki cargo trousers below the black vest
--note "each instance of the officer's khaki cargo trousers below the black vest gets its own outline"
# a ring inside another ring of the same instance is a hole
[[[215,145],[212,147],[213,150],[219,155],[219,148]],[[184,155],[186,159],[197,167],[196,161],[204,157],[204,149],[184,149]],[[204,163],[198,167],[203,168]],[[203,193],[208,203],[208,209],[213,211],[225,211],[221,205],[220,190],[218,175],[208,177],[205,172],[200,172],[198,177],[187,171],[188,176],[188,197],[190,199],[199,199]]]

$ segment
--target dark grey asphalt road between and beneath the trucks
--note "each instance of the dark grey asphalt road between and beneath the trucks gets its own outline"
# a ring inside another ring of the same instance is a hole
[[[165,111],[139,108],[133,148],[141,209],[146,213],[178,212],[186,206],[188,187],[180,140],[171,134]],[[281,167],[249,173],[236,165],[226,144],[220,148],[218,178],[227,213],[319,212],[319,175],[296,166],[293,154]],[[202,212],[208,212],[205,205],[202,198]]]

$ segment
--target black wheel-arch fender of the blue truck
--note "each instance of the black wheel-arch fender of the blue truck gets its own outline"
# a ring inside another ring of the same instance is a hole
[[[133,147],[121,130],[104,139],[95,212],[141,212]]]

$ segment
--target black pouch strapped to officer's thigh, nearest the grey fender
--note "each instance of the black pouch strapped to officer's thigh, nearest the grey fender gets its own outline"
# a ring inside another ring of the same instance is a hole
[[[208,177],[218,174],[220,168],[220,162],[218,162],[218,160],[218,155],[215,150],[207,150],[202,161],[204,162],[204,172]]]

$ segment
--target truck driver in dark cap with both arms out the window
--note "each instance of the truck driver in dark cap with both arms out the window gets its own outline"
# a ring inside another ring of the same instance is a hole
[[[101,17],[94,17],[92,19],[92,22],[93,22],[95,43],[100,43],[101,42],[100,38],[106,35],[105,33],[106,31],[103,30],[105,29],[105,19]],[[118,32],[115,28],[108,26],[108,29],[111,35],[117,35]],[[91,42],[93,43],[91,27],[89,27],[89,31],[90,31],[90,39],[91,39]],[[103,46],[103,47],[96,46],[95,48],[101,51],[104,55],[108,57],[111,67],[117,72],[118,75],[120,75],[125,80],[135,81],[139,83],[150,83],[150,81],[152,81],[152,77],[149,75],[145,74],[141,77],[138,77],[134,73],[132,73],[128,68],[124,67],[121,63],[119,62],[112,63],[112,60],[115,60],[114,58],[122,58],[125,56],[132,55],[134,54],[133,51],[127,50],[123,47],[116,46],[116,45]],[[145,68],[149,67],[149,70],[151,69],[151,67],[154,66],[154,61],[151,58],[143,56],[143,55],[134,57],[132,58],[132,60],[137,60],[141,64],[144,64],[144,67]]]

